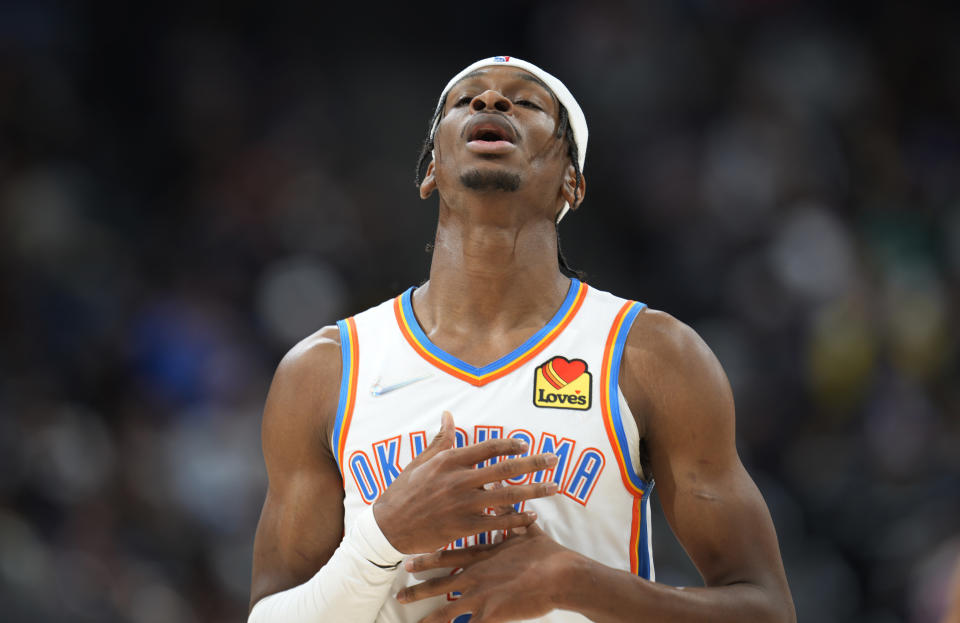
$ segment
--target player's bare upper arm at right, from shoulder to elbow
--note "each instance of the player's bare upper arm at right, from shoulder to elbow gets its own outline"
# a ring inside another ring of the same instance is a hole
[[[625,365],[642,379],[643,430],[670,526],[707,586],[785,586],[770,514],[737,455],[720,363],[685,325],[652,324]]]

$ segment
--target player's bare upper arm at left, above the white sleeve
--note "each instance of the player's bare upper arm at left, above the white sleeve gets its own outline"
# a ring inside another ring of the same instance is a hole
[[[308,580],[342,539],[343,483],[325,439],[338,376],[339,348],[331,342],[294,349],[274,376],[263,415],[269,485],[254,540],[251,606]]]

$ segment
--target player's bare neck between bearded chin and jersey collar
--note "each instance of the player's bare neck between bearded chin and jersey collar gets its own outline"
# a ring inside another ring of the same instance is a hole
[[[503,193],[473,209],[442,199],[430,281],[417,290],[417,317],[435,342],[458,336],[538,330],[570,286],[557,265],[557,234],[547,219],[522,218]]]

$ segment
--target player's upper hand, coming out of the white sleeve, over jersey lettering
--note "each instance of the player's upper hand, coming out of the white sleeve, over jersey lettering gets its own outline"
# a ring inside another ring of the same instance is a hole
[[[380,530],[390,543],[407,554],[432,552],[451,541],[491,530],[528,526],[533,512],[487,515],[485,509],[510,506],[557,492],[552,480],[543,483],[485,489],[523,474],[550,469],[554,454],[500,459],[477,469],[493,457],[521,455],[527,444],[519,439],[490,439],[455,448],[453,416],[443,413],[440,432],[429,446],[400,473],[373,506]]]

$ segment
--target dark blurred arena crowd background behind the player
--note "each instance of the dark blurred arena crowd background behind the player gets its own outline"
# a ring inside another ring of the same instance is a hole
[[[0,619],[244,619],[272,371],[426,278],[428,117],[509,54],[590,124],[571,263],[725,366],[800,621],[938,620],[952,4],[146,4],[0,1]],[[654,534],[658,579],[699,584]]]

